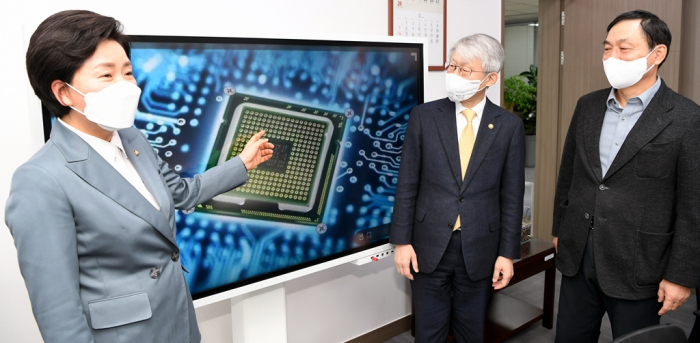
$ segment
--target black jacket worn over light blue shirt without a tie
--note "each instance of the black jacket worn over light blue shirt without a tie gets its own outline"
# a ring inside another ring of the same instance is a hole
[[[610,88],[579,99],[564,144],[552,235],[557,267],[578,272],[589,217],[603,292],[656,296],[662,279],[696,287],[700,275],[700,107],[662,81],[602,177],[599,140]]]

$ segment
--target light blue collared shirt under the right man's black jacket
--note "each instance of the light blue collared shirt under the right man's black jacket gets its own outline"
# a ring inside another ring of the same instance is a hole
[[[625,138],[660,87],[661,78],[657,76],[656,83],[639,96],[628,99],[625,108],[622,108],[615,99],[615,88],[610,90],[606,101],[603,129],[600,131],[600,167],[603,170],[603,176],[608,172]]]

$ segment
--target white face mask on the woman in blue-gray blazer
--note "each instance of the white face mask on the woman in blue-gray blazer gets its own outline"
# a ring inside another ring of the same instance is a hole
[[[134,125],[136,107],[141,97],[141,88],[128,81],[119,81],[99,92],[83,94],[73,86],[68,87],[85,97],[85,109],[80,111],[89,121],[107,131],[126,129]]]

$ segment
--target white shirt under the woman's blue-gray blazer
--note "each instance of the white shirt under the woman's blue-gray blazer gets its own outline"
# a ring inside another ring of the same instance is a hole
[[[88,143],[90,147],[97,151],[97,153],[102,156],[107,163],[114,167],[114,169],[116,169],[117,172],[119,172],[119,174],[126,179],[126,181],[129,181],[129,183],[134,186],[134,188],[136,188],[136,190],[139,191],[139,193],[141,193],[141,195],[143,195],[143,197],[146,198],[146,200],[148,200],[153,207],[160,210],[160,205],[153,197],[153,194],[151,194],[148,188],[146,188],[141,176],[139,176],[139,173],[136,172],[136,169],[134,169],[131,161],[129,161],[129,158],[124,153],[124,146],[122,145],[122,140],[117,131],[114,131],[112,141],[107,142],[70,126],[60,118],[56,119],[57,122],[73,131],[76,135],[78,135],[78,137],[82,138],[86,143]]]

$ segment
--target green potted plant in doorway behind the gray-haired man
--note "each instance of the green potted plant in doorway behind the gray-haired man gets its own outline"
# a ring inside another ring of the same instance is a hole
[[[525,125],[525,166],[535,166],[535,132],[537,124],[537,67],[504,80],[505,107]]]

